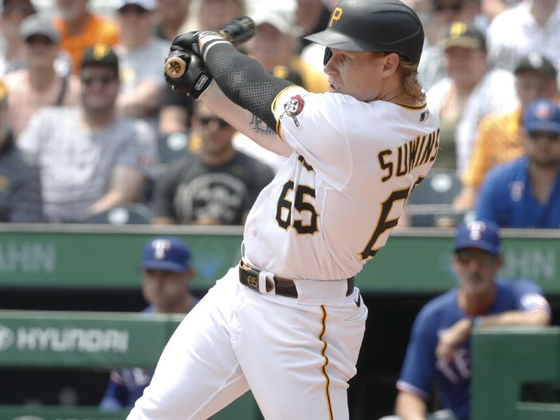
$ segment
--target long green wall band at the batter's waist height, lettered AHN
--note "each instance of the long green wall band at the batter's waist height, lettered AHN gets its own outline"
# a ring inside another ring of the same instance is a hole
[[[176,235],[193,249],[205,290],[239,261],[241,228],[104,225],[0,225],[0,288],[138,288],[144,242]],[[439,293],[454,286],[449,268],[453,230],[394,232],[357,277],[364,292]],[[504,230],[503,276],[529,277],[545,293],[560,293],[560,232]]]

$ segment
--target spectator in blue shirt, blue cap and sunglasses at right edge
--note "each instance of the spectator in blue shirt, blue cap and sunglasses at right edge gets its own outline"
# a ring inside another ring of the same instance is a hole
[[[525,154],[489,172],[477,218],[501,228],[560,228],[560,107],[531,102],[521,117]]]

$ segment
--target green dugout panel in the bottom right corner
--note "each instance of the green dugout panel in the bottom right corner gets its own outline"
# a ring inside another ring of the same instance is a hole
[[[560,328],[478,330],[472,355],[472,419],[560,419]],[[527,384],[538,384],[541,402],[523,401]]]

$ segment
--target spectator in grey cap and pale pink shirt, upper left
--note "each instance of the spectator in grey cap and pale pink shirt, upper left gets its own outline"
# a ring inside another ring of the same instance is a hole
[[[77,106],[80,96],[78,76],[61,76],[55,70],[60,35],[50,18],[29,16],[20,27],[20,40],[24,68],[4,79],[10,90],[8,115],[16,140],[36,111],[46,106]]]

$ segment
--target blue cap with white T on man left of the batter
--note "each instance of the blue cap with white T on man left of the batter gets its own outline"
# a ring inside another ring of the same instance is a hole
[[[140,268],[185,272],[190,268],[190,249],[185,242],[174,237],[150,239],[144,245]]]

